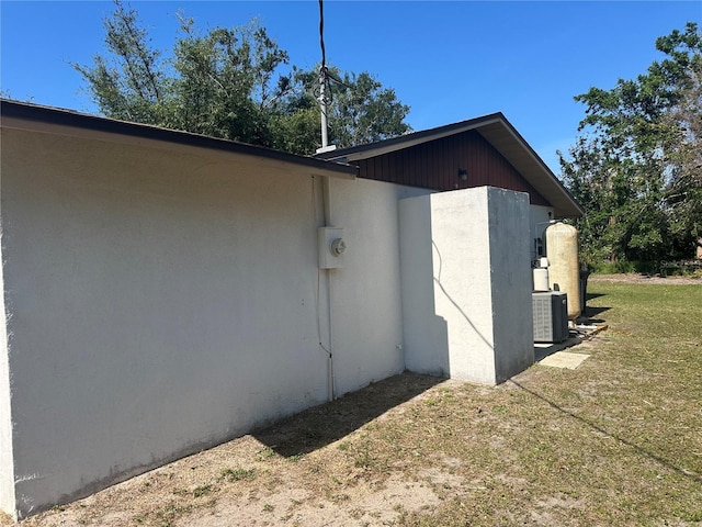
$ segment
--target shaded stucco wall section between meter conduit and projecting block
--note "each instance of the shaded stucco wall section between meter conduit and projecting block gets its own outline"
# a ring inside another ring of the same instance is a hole
[[[405,369],[397,188],[330,181],[330,223],[343,227],[344,264],[330,272],[336,394]]]

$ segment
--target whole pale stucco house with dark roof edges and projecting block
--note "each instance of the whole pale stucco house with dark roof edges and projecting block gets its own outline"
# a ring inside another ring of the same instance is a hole
[[[521,137],[505,154],[480,133],[510,135],[503,116],[465,123],[521,187],[362,166],[431,134],[320,159],[3,100],[0,507],[34,514],[405,369],[528,367],[534,233],[579,209]]]

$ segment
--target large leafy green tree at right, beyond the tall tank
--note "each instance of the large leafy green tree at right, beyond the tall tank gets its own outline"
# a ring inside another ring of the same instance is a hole
[[[590,262],[687,258],[702,237],[702,35],[688,23],[656,48],[636,79],[575,98],[586,114],[561,165]]]

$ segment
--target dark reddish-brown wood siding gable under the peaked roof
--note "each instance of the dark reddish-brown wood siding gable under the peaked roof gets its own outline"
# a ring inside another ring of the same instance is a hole
[[[528,192],[534,205],[551,205],[479,133],[468,131],[441,139],[358,161],[359,177],[421,187],[455,190],[498,187]],[[464,169],[466,180],[458,177]]]

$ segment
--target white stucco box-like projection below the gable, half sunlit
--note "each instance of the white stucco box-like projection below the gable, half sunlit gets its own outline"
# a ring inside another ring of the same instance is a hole
[[[528,216],[526,194],[487,187],[400,201],[408,369],[494,384],[528,366]]]

